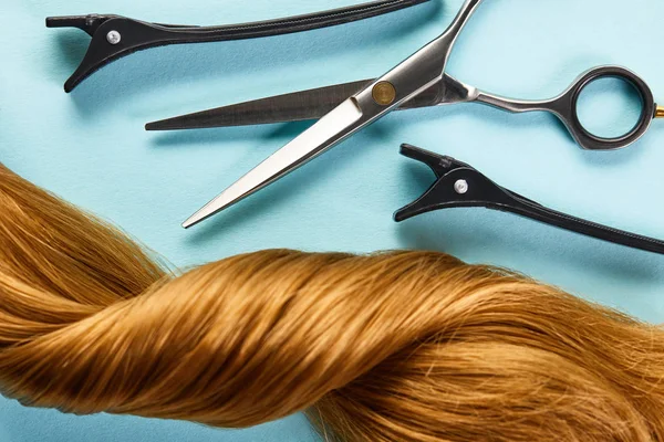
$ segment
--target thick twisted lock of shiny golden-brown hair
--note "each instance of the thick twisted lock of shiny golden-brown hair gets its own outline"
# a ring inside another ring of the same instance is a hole
[[[334,441],[664,441],[664,333],[433,252],[184,275],[0,167],[0,388],[65,412]]]

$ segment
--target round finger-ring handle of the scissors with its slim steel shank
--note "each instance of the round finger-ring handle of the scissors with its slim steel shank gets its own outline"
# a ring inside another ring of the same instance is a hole
[[[600,78],[619,78],[632,85],[641,98],[641,116],[636,125],[619,137],[605,138],[591,134],[579,119],[579,97],[583,90]],[[561,95],[543,102],[519,102],[479,93],[478,102],[510,112],[547,110],[554,114],[566,125],[574,140],[588,150],[615,150],[639,140],[650,128],[655,117],[656,104],[649,85],[639,75],[621,66],[599,66],[584,72]]]

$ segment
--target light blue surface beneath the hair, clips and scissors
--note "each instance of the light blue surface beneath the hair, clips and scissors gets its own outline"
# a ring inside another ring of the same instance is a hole
[[[395,113],[200,227],[179,224],[308,125],[148,134],[146,122],[304,87],[380,75],[446,27],[460,0],[305,34],[167,46],[62,85],[89,44],[46,15],[112,12],[172,23],[237,23],[350,0],[3,0],[0,160],[114,220],[174,264],[293,248],[370,252],[425,248],[516,269],[643,319],[664,317],[664,259],[481,209],[404,224],[392,213],[433,178],[398,155],[407,141],[469,162],[549,207],[664,238],[664,124],[616,152],[579,149],[553,117],[477,105]],[[621,64],[664,97],[661,0],[487,0],[448,65],[459,80],[520,98],[561,92],[582,71]],[[603,82],[582,102],[588,125],[629,126],[633,97]],[[618,107],[616,107],[618,106]],[[1,210],[1,208],[0,208]],[[297,415],[243,431],[124,417],[68,417],[0,401],[0,440],[315,441]]]

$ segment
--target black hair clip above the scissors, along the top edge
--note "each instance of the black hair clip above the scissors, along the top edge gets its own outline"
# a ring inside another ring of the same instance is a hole
[[[224,27],[147,23],[113,14],[50,17],[48,28],[79,28],[92,36],[85,57],[64,85],[71,92],[104,65],[136,51],[167,44],[255,39],[326,28],[409,8],[428,0],[382,0],[307,15]]]

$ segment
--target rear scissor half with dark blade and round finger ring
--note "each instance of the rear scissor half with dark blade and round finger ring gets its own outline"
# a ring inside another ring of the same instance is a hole
[[[602,138],[590,134],[579,120],[577,103],[588,84],[601,77],[619,77],[634,86],[642,102],[642,114],[636,126],[627,134],[615,138]],[[350,91],[376,84],[377,80],[320,87],[270,98],[240,103],[214,110],[152,123],[152,130],[174,128],[201,128],[255,125],[268,123],[318,119],[332,110],[349,96]],[[375,101],[375,99],[374,99]],[[664,117],[664,108],[657,107],[654,96],[645,82],[633,72],[621,66],[600,66],[583,73],[566,92],[543,101],[506,98],[478,91],[448,74],[413,98],[402,103],[396,109],[443,106],[459,103],[480,103],[511,113],[549,112],[556,115],[568,128],[580,147],[590,150],[613,150],[630,146],[650,128],[653,117]]]

